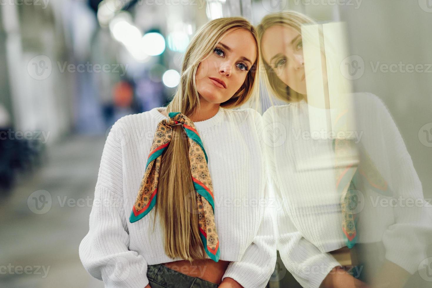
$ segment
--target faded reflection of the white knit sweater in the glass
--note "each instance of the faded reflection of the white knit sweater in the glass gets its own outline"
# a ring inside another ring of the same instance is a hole
[[[371,93],[349,97],[354,103],[356,142],[362,144],[394,193],[384,196],[367,187],[361,191],[364,199],[359,199],[357,210],[357,242],[382,241],[385,258],[413,274],[426,258],[431,208],[426,207],[413,162],[382,101]],[[301,101],[273,106],[263,115],[272,187],[283,204],[277,212],[277,247],[284,265],[303,287],[319,287],[328,272],[340,266],[327,252],[346,245],[331,167],[333,140],[312,139],[309,130],[309,115],[318,117],[319,110]],[[381,204],[381,199],[400,196],[419,199],[419,205],[404,206],[408,204],[405,200],[396,207]]]

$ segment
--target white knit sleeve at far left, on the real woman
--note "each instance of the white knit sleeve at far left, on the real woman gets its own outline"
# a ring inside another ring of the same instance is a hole
[[[122,147],[127,143],[126,125],[112,126],[102,152],[95,196],[89,218],[89,232],[79,245],[79,258],[94,278],[105,287],[144,288],[147,263],[131,251],[122,190]]]

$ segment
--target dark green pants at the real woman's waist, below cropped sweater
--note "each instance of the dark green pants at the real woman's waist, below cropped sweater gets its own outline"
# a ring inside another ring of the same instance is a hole
[[[175,271],[162,264],[148,265],[147,278],[152,288],[217,288],[219,286]]]

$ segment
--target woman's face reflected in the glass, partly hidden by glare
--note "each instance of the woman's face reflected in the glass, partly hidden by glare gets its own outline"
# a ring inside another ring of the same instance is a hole
[[[289,26],[273,25],[261,39],[261,51],[276,76],[295,92],[306,94],[302,35]]]

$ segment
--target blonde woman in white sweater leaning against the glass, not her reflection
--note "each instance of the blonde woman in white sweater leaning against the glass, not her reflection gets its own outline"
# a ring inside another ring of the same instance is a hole
[[[191,40],[168,106],[112,127],[95,198],[117,205],[92,207],[79,246],[107,287],[267,284],[276,241],[253,204],[267,196],[262,118],[232,109],[257,95],[258,56],[246,19],[212,20]]]

